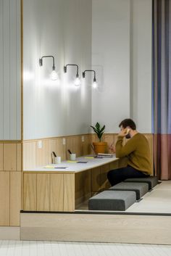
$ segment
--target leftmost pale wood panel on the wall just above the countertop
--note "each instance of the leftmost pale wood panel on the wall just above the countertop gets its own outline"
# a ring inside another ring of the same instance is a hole
[[[23,170],[36,168],[36,141],[23,143]]]

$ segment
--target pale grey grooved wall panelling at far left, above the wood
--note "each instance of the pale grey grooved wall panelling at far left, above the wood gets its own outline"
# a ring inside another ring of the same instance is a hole
[[[0,0],[0,140],[21,139],[20,0]]]

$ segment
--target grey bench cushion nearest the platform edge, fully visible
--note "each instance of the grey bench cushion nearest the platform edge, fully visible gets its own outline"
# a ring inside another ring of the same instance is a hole
[[[88,200],[89,210],[127,210],[136,201],[135,191],[103,191]]]

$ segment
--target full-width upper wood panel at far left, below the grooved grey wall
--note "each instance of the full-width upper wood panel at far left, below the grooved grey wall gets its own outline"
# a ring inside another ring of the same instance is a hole
[[[17,144],[4,144],[4,170],[17,170]]]

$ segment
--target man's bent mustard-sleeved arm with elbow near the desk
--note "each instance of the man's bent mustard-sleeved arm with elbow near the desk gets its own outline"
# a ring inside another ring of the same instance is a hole
[[[126,157],[131,152],[135,151],[135,143],[134,139],[130,139],[125,146],[122,146],[123,137],[118,136],[117,143],[116,143],[116,157]]]

